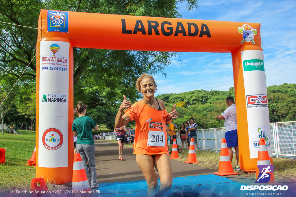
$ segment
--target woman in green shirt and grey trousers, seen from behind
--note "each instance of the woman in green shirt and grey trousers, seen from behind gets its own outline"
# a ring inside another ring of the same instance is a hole
[[[89,186],[97,188],[99,183],[96,181],[96,164],[94,162],[96,148],[94,146],[92,129],[98,131],[99,126],[91,117],[85,115],[86,109],[87,106],[79,101],[76,107],[78,118],[73,121],[72,131],[73,135],[77,136],[76,152],[80,154],[82,159]]]

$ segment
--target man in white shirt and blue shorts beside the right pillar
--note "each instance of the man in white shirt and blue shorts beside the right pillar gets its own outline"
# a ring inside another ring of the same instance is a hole
[[[224,126],[226,129],[225,132],[225,139],[228,147],[229,157],[230,161],[232,161],[233,152],[232,147],[234,147],[235,150],[235,156],[237,158],[237,166],[235,167],[235,170],[240,171],[239,167],[239,147],[238,147],[238,141],[237,141],[237,115],[236,115],[236,106],[234,102],[233,97],[227,97],[226,98],[226,104],[228,108],[226,110],[216,115],[216,119],[223,119],[225,120]]]

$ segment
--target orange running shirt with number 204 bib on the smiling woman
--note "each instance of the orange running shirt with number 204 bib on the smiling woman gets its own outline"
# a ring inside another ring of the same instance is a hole
[[[140,100],[124,113],[136,121],[133,154],[168,154],[165,119],[169,113],[166,110],[150,108]]]

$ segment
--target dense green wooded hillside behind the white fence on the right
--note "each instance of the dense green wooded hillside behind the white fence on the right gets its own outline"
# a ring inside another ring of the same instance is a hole
[[[283,84],[267,87],[269,120],[270,122],[296,121],[296,84]],[[226,108],[225,99],[234,97],[234,87],[229,91],[194,90],[179,94],[162,94],[156,98],[162,99],[167,110],[173,104],[178,104],[178,118],[173,120],[178,126],[191,117],[198,129],[224,127],[223,120],[216,120],[215,116],[221,114]],[[181,103],[186,105],[181,105]]]

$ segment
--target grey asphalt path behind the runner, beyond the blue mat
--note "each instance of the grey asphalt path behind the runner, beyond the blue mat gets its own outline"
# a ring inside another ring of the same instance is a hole
[[[145,180],[143,173],[136,163],[136,155],[132,148],[123,149],[123,160],[118,160],[118,145],[103,140],[95,140],[96,152],[96,180],[98,183],[114,183],[135,180]],[[173,178],[194,175],[214,174],[217,170],[187,164],[185,162],[170,159]],[[158,173],[157,178],[159,178]]]

